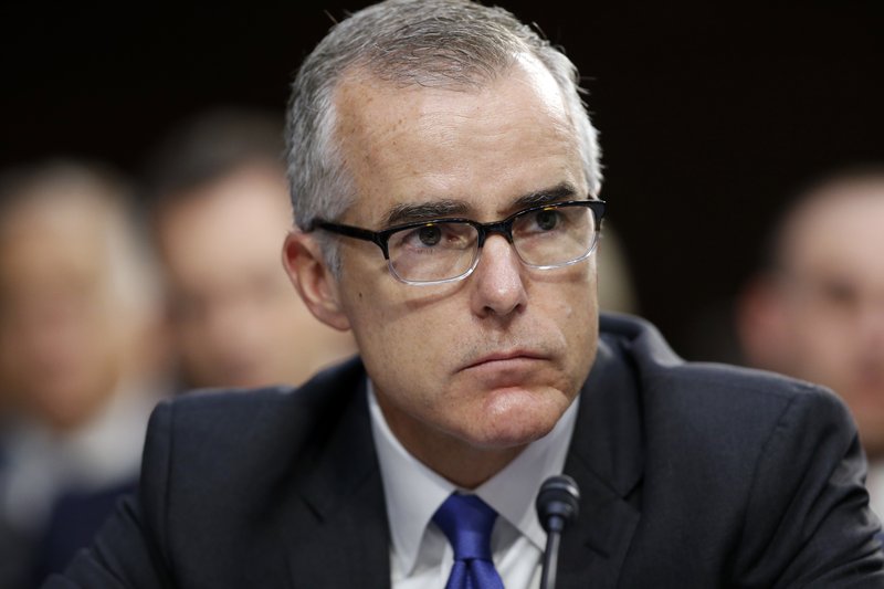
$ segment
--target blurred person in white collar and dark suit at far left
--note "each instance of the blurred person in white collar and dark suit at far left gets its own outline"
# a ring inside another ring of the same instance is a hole
[[[87,545],[137,482],[162,390],[155,276],[124,183],[48,162],[0,181],[0,587]]]

